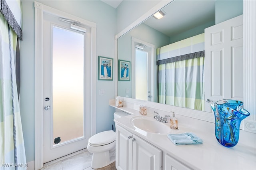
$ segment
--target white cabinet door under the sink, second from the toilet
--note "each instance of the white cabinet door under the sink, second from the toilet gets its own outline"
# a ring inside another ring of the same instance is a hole
[[[162,150],[133,135],[132,169],[160,170],[162,167]]]

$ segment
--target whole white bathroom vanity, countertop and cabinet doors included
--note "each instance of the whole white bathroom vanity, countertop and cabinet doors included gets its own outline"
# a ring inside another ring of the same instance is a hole
[[[162,108],[163,105],[159,103],[153,105],[148,102],[140,102],[140,100],[125,98],[124,105],[126,107],[117,108],[115,100],[110,101],[110,106],[130,113],[128,116],[114,120],[116,125],[116,168],[118,170],[256,170],[255,134],[240,130],[239,143],[235,147],[226,148],[216,141],[214,123],[178,115],[179,131],[170,130],[170,133],[178,134],[191,131],[200,136],[204,143],[176,146],[166,134],[146,132],[133,124],[133,120],[141,117],[152,118],[154,114],[151,113],[155,110],[169,111],[173,110],[172,107],[169,108],[168,105],[166,108]],[[138,109],[134,109],[139,108],[140,105],[147,106],[148,114],[146,116],[141,116]],[[180,110],[180,112],[182,111]],[[168,112],[163,111],[162,115],[168,115]],[[227,164],[226,158],[233,160],[232,164]]]

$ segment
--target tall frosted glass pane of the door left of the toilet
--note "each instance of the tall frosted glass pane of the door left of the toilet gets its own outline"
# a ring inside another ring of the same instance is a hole
[[[55,26],[52,28],[52,120],[54,144],[84,136],[84,35]]]

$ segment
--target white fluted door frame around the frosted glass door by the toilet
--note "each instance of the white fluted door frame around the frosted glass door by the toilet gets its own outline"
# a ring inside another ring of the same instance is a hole
[[[96,67],[96,24],[83,20],[66,12],[56,10],[39,2],[34,2],[35,8],[35,169],[43,167],[43,15],[49,13],[52,15],[79,21],[91,29],[91,51],[90,65]],[[94,68],[94,67],[92,67]],[[90,73],[90,136],[96,134],[96,71]]]

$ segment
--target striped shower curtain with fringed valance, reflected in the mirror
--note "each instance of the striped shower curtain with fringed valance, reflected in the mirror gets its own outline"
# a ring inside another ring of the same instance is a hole
[[[157,49],[158,102],[204,110],[204,33]]]

